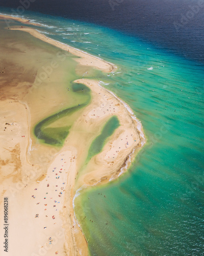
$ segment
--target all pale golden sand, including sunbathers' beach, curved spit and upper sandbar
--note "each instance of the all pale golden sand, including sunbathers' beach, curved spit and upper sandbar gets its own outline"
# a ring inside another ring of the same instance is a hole
[[[29,23],[29,20],[20,18],[0,17]],[[10,30],[27,32],[78,56],[74,60],[79,65],[103,72],[116,69],[112,63],[61,44],[34,29]],[[91,90],[91,102],[75,120],[60,150],[38,145],[41,147],[39,153],[32,151],[33,121],[28,102],[23,97],[21,100],[2,98],[0,101],[3,119],[0,137],[4,141],[0,148],[0,203],[3,204],[4,197],[9,198],[9,255],[88,255],[86,239],[74,217],[74,195],[82,186],[107,183],[119,177],[130,166],[130,160],[134,159],[144,142],[143,133],[138,130],[141,124],[130,107],[127,108],[114,94],[100,86],[97,80],[77,79],[74,82],[85,84]],[[30,87],[34,83],[31,81]],[[91,142],[112,116],[117,116],[120,126],[103,150],[93,156],[85,167]],[[81,145],[86,145],[86,149]],[[35,162],[31,161],[32,154],[38,154]],[[5,252],[3,255],[8,254]]]

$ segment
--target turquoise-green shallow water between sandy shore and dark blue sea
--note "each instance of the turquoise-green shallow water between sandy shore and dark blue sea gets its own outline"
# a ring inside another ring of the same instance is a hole
[[[131,106],[147,138],[126,174],[75,199],[90,255],[203,255],[204,67],[107,28],[28,17],[117,65],[95,78]]]

